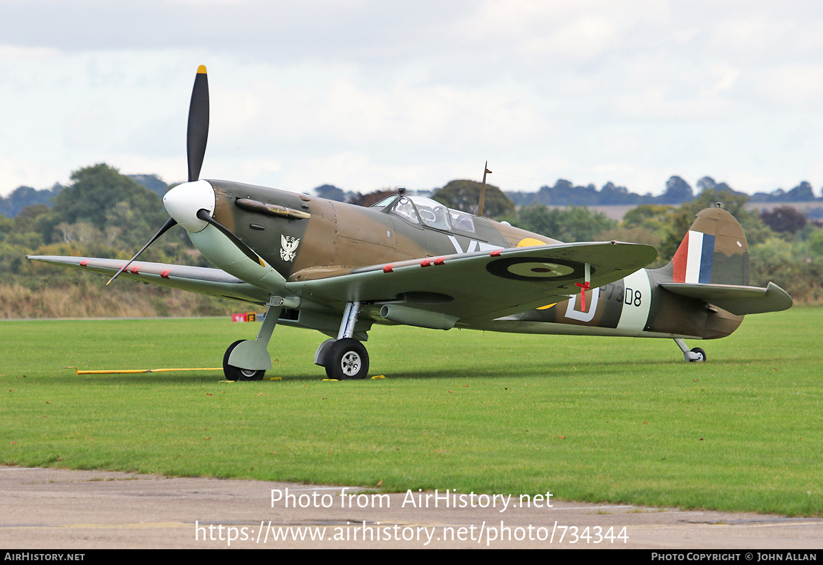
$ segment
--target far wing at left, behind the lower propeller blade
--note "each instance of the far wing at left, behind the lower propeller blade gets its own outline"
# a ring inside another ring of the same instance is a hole
[[[126,262],[123,259],[96,259],[93,257],[60,257],[57,255],[26,255],[26,259],[81,268],[111,276]],[[189,292],[199,292],[212,297],[266,304],[268,293],[244,283],[219,268],[188,267],[135,261],[121,275],[141,283],[159,284]]]

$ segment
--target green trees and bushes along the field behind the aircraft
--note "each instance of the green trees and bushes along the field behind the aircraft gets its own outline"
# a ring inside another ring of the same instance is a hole
[[[110,166],[100,164],[77,170],[71,178],[71,184],[61,187],[49,197],[50,206],[35,203],[21,208],[14,217],[0,216],[0,302],[7,307],[6,312],[0,311],[0,317],[26,315],[25,310],[21,314],[20,308],[14,310],[8,306],[21,301],[21,289],[29,293],[25,301],[31,315],[49,315],[49,301],[53,298],[38,295],[47,288],[79,292],[81,298],[78,301],[104,301],[105,281],[99,275],[35,264],[25,259],[26,254],[129,259],[167,218],[158,194],[165,189],[165,184],[162,187],[153,186],[152,189],[145,185],[156,184],[156,181],[162,183],[156,177],[138,179],[143,181],[144,184],[141,184]],[[677,190],[682,193],[681,185],[672,186],[669,194]],[[765,285],[771,280],[785,288],[797,301],[823,300],[821,222],[810,221],[788,206],[760,214],[751,212],[745,208],[751,197],[727,189],[723,184],[709,186],[704,183],[700,188],[700,194],[685,203],[643,203],[617,222],[586,206],[550,208],[545,203],[516,206],[508,194],[488,184],[483,213],[487,217],[567,242],[622,240],[652,245],[658,250],[658,262],[653,266],[661,266],[672,258],[695,213],[720,202],[723,208],[737,217],[746,232],[751,253],[752,284]],[[353,200],[369,205],[392,192],[383,190],[359,194]],[[435,190],[431,196],[450,208],[476,213],[479,193],[480,183],[453,180]],[[141,259],[208,266],[183,230],[170,231],[151,245]],[[117,288],[113,290],[111,287]],[[216,314],[242,308],[209,297],[180,302],[169,289],[128,282],[105,287],[105,292],[114,292],[119,301],[134,301],[137,300],[135,297],[141,297],[140,300],[145,303],[145,315]],[[86,304],[83,311],[94,309]],[[57,315],[53,311],[51,314]]]

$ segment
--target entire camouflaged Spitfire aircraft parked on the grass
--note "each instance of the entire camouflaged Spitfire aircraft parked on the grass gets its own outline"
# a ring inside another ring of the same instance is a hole
[[[314,362],[332,379],[362,379],[374,324],[526,334],[674,339],[686,361],[706,358],[684,339],[723,338],[743,316],[785,310],[774,283],[749,286],[746,236],[731,214],[697,214],[672,262],[617,241],[565,244],[398,191],[370,208],[226,180],[200,180],[208,133],[206,68],[188,114],[188,182],[163,203],[170,219],[131,261],[29,259],[121,275],[266,306],[256,339],[232,343],[226,378],[272,368],[277,324],[317,329]],[[216,268],[136,261],[175,224]],[[109,283],[111,282],[109,280]]]

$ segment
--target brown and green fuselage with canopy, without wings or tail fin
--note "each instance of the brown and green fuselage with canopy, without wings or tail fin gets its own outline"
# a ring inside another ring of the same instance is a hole
[[[285,283],[313,280],[407,259],[560,243],[506,223],[445,208],[427,198],[397,195],[363,208],[250,184],[222,180],[209,180],[208,184],[215,194],[216,221],[249,245],[264,259],[265,267],[279,275],[265,274],[258,265],[249,265],[249,270],[260,273],[261,287],[276,287],[281,284],[276,280],[279,278]],[[208,238],[200,237],[201,245],[193,237],[195,245],[212,246],[210,242],[202,243]],[[226,259],[210,256],[211,249],[201,251],[229,272],[247,260],[232,259],[234,264],[225,265],[220,262]],[[595,287],[587,293],[585,308],[577,294],[537,310],[470,327],[535,334],[699,339],[720,338],[737,329],[742,316],[660,287],[659,283],[672,281],[670,271],[640,269],[619,281]],[[247,276],[241,278],[249,280]],[[269,290],[277,293],[275,287]]]

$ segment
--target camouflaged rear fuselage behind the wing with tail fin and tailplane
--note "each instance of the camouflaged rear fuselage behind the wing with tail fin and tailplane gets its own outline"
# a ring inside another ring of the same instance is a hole
[[[587,311],[575,297],[497,320],[497,325],[508,326],[508,331],[537,334],[723,338],[737,329],[743,314],[791,306],[788,295],[774,289],[769,301],[761,298],[758,307],[757,295],[743,289],[748,284],[749,253],[742,227],[725,210],[706,208],[697,214],[671,263],[653,270],[640,269],[595,289],[593,305]],[[715,300],[741,315],[713,305],[710,292],[717,292]],[[719,297],[721,292],[727,293],[726,302]],[[766,292],[761,294],[765,297]],[[732,298],[741,304],[729,302]],[[569,329],[567,325],[580,327]]]

